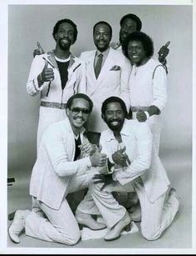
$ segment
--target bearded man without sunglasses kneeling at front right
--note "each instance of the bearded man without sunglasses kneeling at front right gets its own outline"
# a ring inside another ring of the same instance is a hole
[[[86,195],[77,210],[89,214],[99,210],[110,228],[105,240],[119,238],[130,218],[112,192],[129,192],[133,186],[140,198],[141,233],[147,240],[157,239],[178,212],[179,198],[174,188],[169,189],[167,173],[154,152],[149,126],[127,120],[125,103],[117,97],[105,99],[101,113],[108,125],[100,135],[101,153],[109,158],[105,168],[113,173],[95,175],[89,188],[91,197]]]

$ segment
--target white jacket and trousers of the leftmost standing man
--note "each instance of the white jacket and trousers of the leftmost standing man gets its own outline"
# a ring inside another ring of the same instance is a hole
[[[47,59],[48,67],[52,68],[54,72],[54,79],[51,82],[45,82],[41,87],[38,87],[37,76],[42,73]],[[68,79],[66,87],[61,88],[61,75],[56,63],[54,52],[37,55],[32,60],[30,73],[27,80],[27,93],[30,96],[40,94],[41,103],[56,104],[58,108],[54,107],[40,107],[39,123],[37,129],[37,151],[42,138],[42,132],[51,124],[61,121],[66,118],[65,105],[73,94],[84,91],[85,85],[85,64],[71,54],[69,67],[67,69]]]

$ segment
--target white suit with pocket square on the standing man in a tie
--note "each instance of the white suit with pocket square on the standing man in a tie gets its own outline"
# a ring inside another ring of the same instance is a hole
[[[100,133],[106,128],[100,112],[105,98],[117,96],[125,101],[127,108],[130,106],[128,82],[131,65],[123,53],[110,48],[100,75],[96,79],[95,56],[96,50],[81,53],[80,58],[86,63],[86,94],[94,103],[93,112],[88,121],[88,129]]]

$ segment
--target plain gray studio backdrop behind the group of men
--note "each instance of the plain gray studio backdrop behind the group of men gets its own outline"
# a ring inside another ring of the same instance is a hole
[[[103,239],[82,241],[85,248],[190,248],[192,234],[192,11],[185,5],[9,5],[8,8],[8,176],[16,182],[8,187],[8,213],[31,208],[28,183],[36,159],[39,97],[27,95],[26,83],[37,40],[47,51],[55,48],[53,26],[61,18],[71,18],[79,35],[71,52],[77,56],[94,49],[93,25],[105,20],[113,28],[112,41],[118,40],[120,18],[135,13],[142,31],[154,39],[154,53],[170,41],[168,103],[160,142],[160,158],[172,185],[181,197],[179,213],[171,227],[157,241],[149,243],[140,233],[114,242]],[[3,35],[2,35],[3,36]],[[9,225],[10,223],[8,223]],[[22,236],[22,243],[10,247],[63,247],[58,243]]]

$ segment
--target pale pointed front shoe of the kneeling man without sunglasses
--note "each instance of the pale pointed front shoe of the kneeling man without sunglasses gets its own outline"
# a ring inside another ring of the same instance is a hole
[[[105,241],[111,241],[119,238],[121,231],[126,228],[128,224],[130,224],[130,221],[130,215],[126,212],[125,216],[118,223],[116,223],[108,233],[105,234]]]

